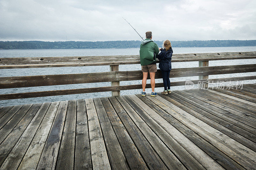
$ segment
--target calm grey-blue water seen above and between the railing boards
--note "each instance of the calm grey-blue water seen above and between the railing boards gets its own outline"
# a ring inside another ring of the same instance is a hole
[[[256,47],[173,48],[174,54],[244,52],[244,51],[256,51]],[[0,57],[100,56],[100,55],[139,55],[139,48],[0,50]],[[209,61],[209,66],[255,64],[255,63],[256,63],[256,59],[223,60],[223,61],[220,60],[220,61]],[[172,68],[187,68],[187,67],[198,67],[198,62],[172,63]],[[141,69],[140,64],[119,66],[120,71],[140,70],[140,69]],[[109,66],[1,69],[0,77],[33,76],[33,75],[49,75],[49,74],[74,74],[74,73],[105,72],[105,71],[109,71]],[[239,76],[252,76],[252,75],[256,75],[256,72],[210,75],[209,78],[225,78],[225,77],[239,77]],[[196,80],[196,79],[198,79],[198,76],[171,78],[171,82]],[[156,79],[156,83],[160,83],[160,82],[162,82],[162,79]],[[150,80],[148,80],[147,83],[150,83]],[[256,83],[256,80],[246,80],[244,81],[244,83]],[[132,85],[132,84],[141,84],[141,80],[120,82],[120,85]],[[76,88],[88,88],[88,87],[102,87],[102,86],[110,86],[110,82],[2,89],[0,94],[61,90],[61,89],[76,89]],[[177,87],[171,87],[171,89],[182,90],[182,89],[185,89],[185,87],[177,86]],[[156,92],[163,91],[163,88],[156,88],[155,91]],[[137,94],[140,92],[141,92],[141,89],[126,90],[126,91],[121,91],[121,95]],[[151,89],[146,89],[146,92],[150,93]],[[27,103],[43,103],[43,102],[85,99],[85,98],[106,97],[106,96],[111,96],[111,92],[72,94],[72,95],[63,95],[63,96],[50,96],[50,97],[2,100],[2,101],[0,100],[0,106],[20,105],[20,104],[27,104]]]

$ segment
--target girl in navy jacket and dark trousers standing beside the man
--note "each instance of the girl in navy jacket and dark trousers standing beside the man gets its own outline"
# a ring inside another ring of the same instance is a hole
[[[172,70],[172,46],[171,46],[171,42],[169,40],[165,40],[164,44],[163,44],[163,48],[159,48],[159,50],[161,50],[161,52],[156,56],[159,60],[159,69],[162,72],[162,76],[163,76],[163,82],[164,82],[164,91],[161,92],[161,94],[170,94],[171,90],[170,90],[170,71]]]

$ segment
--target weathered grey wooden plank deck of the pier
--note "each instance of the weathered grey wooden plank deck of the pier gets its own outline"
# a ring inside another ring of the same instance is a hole
[[[0,107],[0,169],[255,169],[255,89]]]

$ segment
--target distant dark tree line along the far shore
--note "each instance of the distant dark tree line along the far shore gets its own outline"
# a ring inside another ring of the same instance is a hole
[[[155,41],[162,47],[163,41]],[[0,49],[139,48],[141,41],[0,41]],[[256,46],[256,40],[171,41],[172,47]]]

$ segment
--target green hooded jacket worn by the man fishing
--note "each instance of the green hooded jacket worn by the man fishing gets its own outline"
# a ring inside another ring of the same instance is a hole
[[[151,39],[146,38],[140,44],[140,65],[148,65],[156,61],[159,53],[157,44]],[[155,54],[155,56],[154,56]]]

